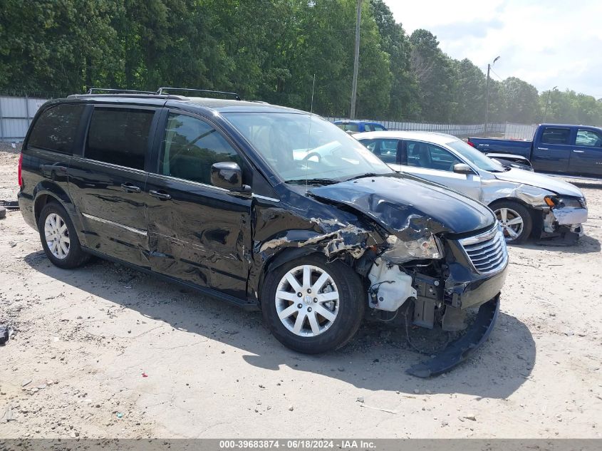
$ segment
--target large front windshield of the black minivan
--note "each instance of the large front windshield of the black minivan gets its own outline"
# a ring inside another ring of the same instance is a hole
[[[285,182],[341,182],[394,173],[357,140],[319,116],[222,113]]]

